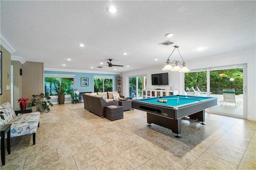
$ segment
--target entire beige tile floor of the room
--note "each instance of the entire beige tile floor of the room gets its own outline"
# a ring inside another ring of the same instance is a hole
[[[54,105],[41,113],[32,135],[11,138],[1,170],[199,170],[256,169],[256,122],[206,113],[206,124],[182,120],[182,139],[146,127],[146,112],[124,111],[109,121],[85,109]]]

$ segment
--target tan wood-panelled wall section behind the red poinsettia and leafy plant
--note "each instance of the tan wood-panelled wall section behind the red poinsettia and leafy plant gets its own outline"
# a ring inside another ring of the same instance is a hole
[[[26,61],[22,72],[22,97],[44,93],[44,63]]]

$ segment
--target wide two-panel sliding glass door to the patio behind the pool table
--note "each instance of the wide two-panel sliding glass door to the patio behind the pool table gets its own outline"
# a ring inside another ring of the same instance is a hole
[[[184,91],[186,92],[186,88],[192,88],[195,95],[216,97],[217,105],[207,109],[209,113],[246,118],[247,115],[244,114],[247,113],[247,107],[244,107],[244,103],[247,103],[246,77],[245,64],[184,73]],[[228,94],[228,98],[225,98],[224,89],[228,89],[228,93],[233,94]]]

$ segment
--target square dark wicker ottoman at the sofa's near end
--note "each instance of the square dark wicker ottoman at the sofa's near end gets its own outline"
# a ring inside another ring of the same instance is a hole
[[[108,106],[105,106],[105,118],[110,121],[124,119],[123,107],[117,106],[116,108],[109,108]]]

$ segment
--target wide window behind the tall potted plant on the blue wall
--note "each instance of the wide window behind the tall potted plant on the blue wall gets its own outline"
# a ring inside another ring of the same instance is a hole
[[[58,83],[66,83],[68,88],[65,89],[64,95],[70,95],[74,91],[74,76],[73,75],[45,75],[44,91],[46,95],[57,96],[55,85]]]

